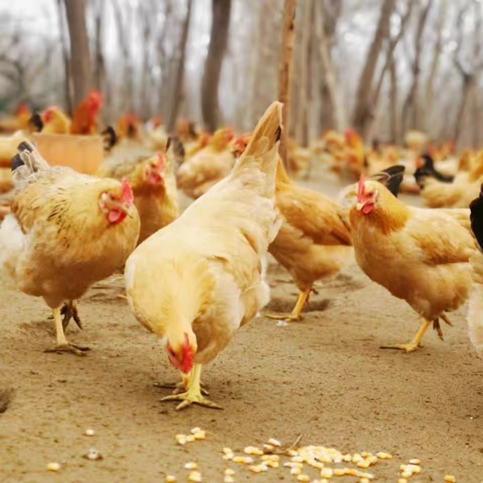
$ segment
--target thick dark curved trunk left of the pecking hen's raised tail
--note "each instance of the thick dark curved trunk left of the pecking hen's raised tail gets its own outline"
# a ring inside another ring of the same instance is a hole
[[[214,131],[220,117],[218,87],[223,57],[228,43],[231,0],[211,0],[211,9],[210,45],[201,82],[201,112],[205,127],[209,131]]]

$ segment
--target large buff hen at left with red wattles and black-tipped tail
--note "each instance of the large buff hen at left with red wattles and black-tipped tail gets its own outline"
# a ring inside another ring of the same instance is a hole
[[[50,168],[28,143],[12,161],[18,185],[12,212],[0,225],[0,280],[42,297],[52,309],[52,351],[83,354],[64,335],[72,301],[124,264],[136,246],[139,217],[127,181]],[[61,305],[68,301],[64,321]]]

